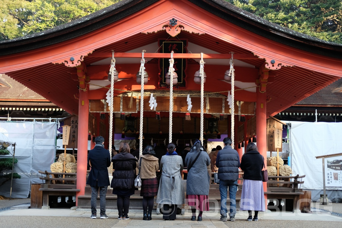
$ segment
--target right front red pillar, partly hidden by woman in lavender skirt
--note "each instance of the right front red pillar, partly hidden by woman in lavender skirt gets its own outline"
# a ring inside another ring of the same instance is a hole
[[[266,93],[261,93],[257,88],[257,105],[255,109],[256,122],[257,122],[257,146],[259,153],[264,156],[265,162],[267,158],[266,153]],[[266,164],[265,164],[266,165]],[[267,191],[266,182],[263,182],[264,192]],[[265,208],[267,209],[267,195],[265,194]]]

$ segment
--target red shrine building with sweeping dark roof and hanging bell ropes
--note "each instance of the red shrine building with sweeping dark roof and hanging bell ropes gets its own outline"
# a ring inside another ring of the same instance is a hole
[[[83,196],[89,134],[107,148],[136,138],[140,153],[151,138],[184,146],[222,134],[240,156],[254,137],[266,158],[266,119],[338,80],[342,45],[223,0],[122,0],[0,42],[0,73],[78,116]]]

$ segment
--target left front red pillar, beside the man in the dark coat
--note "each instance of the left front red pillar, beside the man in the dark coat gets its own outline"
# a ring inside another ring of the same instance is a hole
[[[89,99],[88,91],[79,90],[78,101],[78,142],[77,142],[77,189],[81,191],[76,193],[76,206],[78,196],[84,195],[87,176],[88,159],[88,120],[89,120]]]

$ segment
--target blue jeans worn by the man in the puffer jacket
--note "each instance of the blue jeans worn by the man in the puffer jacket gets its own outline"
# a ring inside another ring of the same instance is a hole
[[[236,191],[237,191],[237,180],[220,180],[220,195],[221,195],[221,211],[222,216],[227,216],[227,190],[229,188],[229,217],[235,216],[236,214]]]

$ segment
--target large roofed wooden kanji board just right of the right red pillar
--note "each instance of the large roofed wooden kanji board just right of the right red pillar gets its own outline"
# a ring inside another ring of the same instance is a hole
[[[268,118],[266,120],[267,125],[266,125],[266,131],[267,131],[267,151],[277,151],[276,147],[276,139],[274,137],[275,135],[275,130],[277,129],[282,129],[282,126],[285,125],[286,123],[281,122],[280,120],[277,120],[273,117]],[[279,135],[280,141],[282,142],[282,131],[280,132]],[[282,143],[280,142],[280,147],[279,152],[282,152]],[[277,146],[278,142],[277,142]]]

